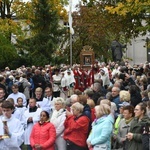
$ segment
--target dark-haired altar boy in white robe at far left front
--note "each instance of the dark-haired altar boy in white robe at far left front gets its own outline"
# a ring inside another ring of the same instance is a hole
[[[4,101],[1,107],[3,115],[0,116],[0,150],[21,150],[24,129],[20,120],[12,115],[14,106],[11,102]]]

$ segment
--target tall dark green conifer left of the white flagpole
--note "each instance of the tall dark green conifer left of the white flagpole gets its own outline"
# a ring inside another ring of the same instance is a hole
[[[48,0],[34,0],[32,2],[33,18],[30,18],[30,31],[32,37],[20,41],[18,48],[27,51],[30,63],[45,65],[53,61],[55,51],[59,49],[59,43],[63,30],[59,26],[59,16],[54,10],[54,3]]]

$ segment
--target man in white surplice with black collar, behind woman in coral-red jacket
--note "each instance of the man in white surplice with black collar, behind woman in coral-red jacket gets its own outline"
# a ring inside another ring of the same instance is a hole
[[[29,99],[29,107],[24,113],[25,117],[25,134],[24,134],[24,144],[27,145],[27,150],[32,150],[30,146],[30,134],[33,128],[33,125],[40,120],[40,113],[42,109],[36,106],[36,99]]]

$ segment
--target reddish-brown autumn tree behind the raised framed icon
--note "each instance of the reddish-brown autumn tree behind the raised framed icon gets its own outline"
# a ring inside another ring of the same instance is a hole
[[[86,6],[79,6],[80,10],[74,12],[74,62],[77,61],[80,51],[85,45],[92,46],[96,59],[101,61],[111,59],[109,50],[111,41],[116,37],[120,37],[123,25],[119,16],[111,15],[105,11],[105,6],[105,3],[94,3],[92,1]],[[79,59],[77,62],[79,62]]]

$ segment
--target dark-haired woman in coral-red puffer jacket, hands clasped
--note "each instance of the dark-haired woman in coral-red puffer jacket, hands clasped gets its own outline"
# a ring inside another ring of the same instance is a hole
[[[54,150],[56,140],[56,130],[53,124],[49,122],[49,114],[42,111],[40,121],[33,126],[30,143],[33,150]]]

